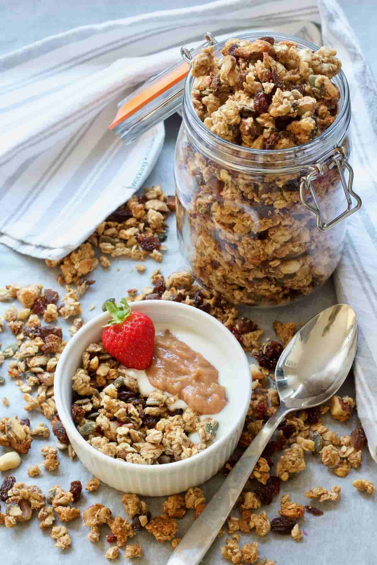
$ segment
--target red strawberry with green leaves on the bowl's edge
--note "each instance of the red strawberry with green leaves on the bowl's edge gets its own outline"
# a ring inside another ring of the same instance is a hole
[[[125,298],[118,305],[108,301],[105,306],[112,315],[102,332],[107,353],[130,369],[149,367],[154,348],[153,321],[141,312],[131,312]]]

